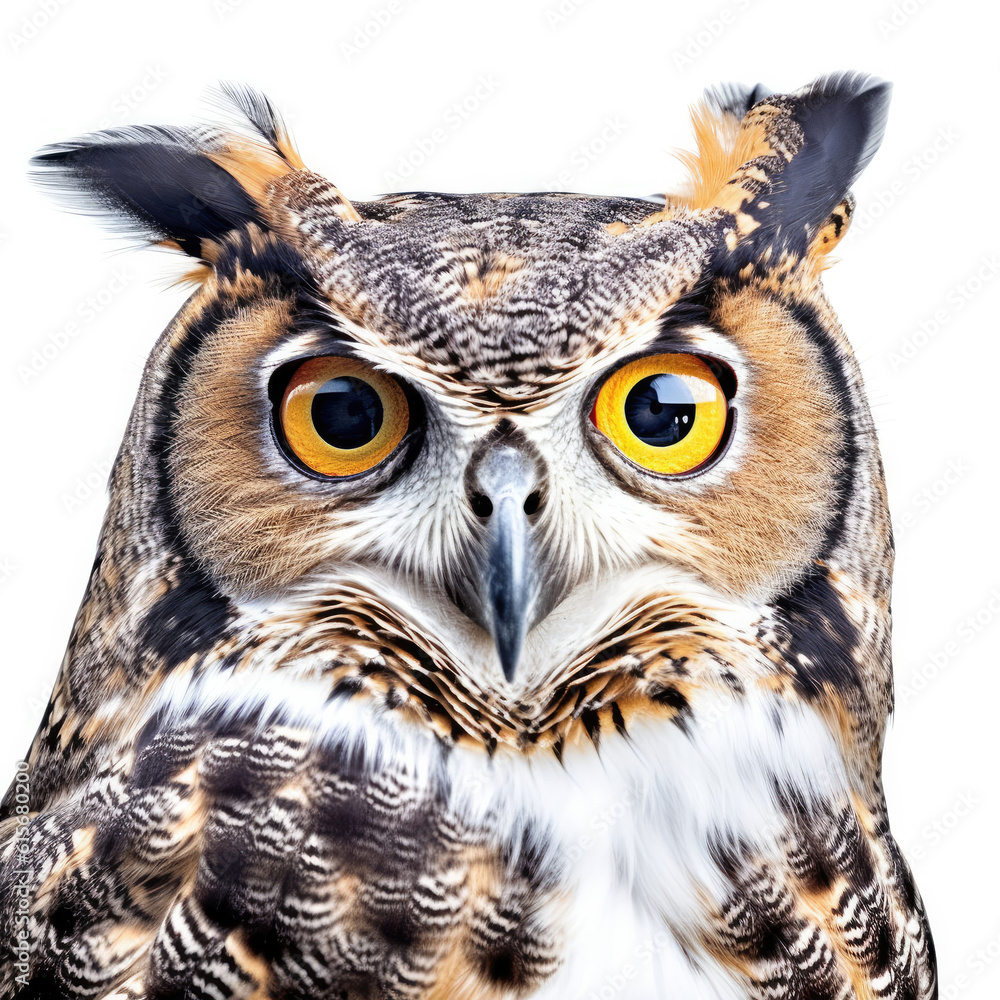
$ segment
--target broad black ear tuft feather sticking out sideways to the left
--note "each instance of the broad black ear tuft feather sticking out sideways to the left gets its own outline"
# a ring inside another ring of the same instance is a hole
[[[201,242],[259,216],[254,200],[205,155],[193,130],[145,126],[48,146],[34,179],[77,210],[110,213],[126,232],[173,240],[200,256]]]

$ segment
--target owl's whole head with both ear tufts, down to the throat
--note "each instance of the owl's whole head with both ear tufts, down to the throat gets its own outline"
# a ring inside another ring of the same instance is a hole
[[[710,91],[686,186],[648,199],[351,202],[228,94],[239,133],[35,161],[197,262],[116,465],[78,690],[266,648],[493,745],[683,713],[697,664],[887,703],[881,469],[820,282],[887,84]]]

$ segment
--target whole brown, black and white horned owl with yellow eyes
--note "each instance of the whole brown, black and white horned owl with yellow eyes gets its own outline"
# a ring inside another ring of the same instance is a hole
[[[193,259],[0,815],[0,996],[929,1000],[821,272],[889,86],[673,195],[351,202],[271,104],[39,179]]]

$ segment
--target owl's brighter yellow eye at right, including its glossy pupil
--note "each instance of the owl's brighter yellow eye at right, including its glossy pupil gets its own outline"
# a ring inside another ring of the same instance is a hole
[[[626,457],[664,475],[711,458],[726,429],[726,396],[712,369],[690,354],[654,354],[601,386],[592,419]]]

